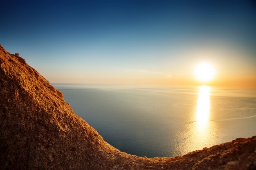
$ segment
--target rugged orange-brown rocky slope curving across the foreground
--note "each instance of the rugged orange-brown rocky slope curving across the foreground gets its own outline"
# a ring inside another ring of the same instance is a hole
[[[252,170],[256,137],[169,158],[120,152],[77,116],[63,94],[0,45],[0,169]]]

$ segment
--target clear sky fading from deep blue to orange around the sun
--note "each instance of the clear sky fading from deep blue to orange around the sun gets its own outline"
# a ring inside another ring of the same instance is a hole
[[[254,0],[1,0],[0,16],[0,44],[51,83],[256,87]]]

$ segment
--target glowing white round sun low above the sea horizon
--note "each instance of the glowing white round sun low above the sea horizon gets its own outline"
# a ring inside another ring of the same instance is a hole
[[[215,76],[215,69],[209,63],[201,63],[195,67],[195,78],[201,82],[208,82]]]

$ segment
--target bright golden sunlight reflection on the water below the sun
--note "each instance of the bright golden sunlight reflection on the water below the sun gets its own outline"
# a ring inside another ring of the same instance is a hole
[[[197,103],[191,114],[194,121],[188,125],[186,133],[179,135],[184,140],[176,145],[180,155],[212,145],[216,127],[215,122],[210,121],[210,90],[209,86],[198,88]]]

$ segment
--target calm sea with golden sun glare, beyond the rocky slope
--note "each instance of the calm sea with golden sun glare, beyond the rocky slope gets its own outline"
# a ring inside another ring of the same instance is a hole
[[[172,157],[256,135],[256,89],[53,84],[122,152]]]

